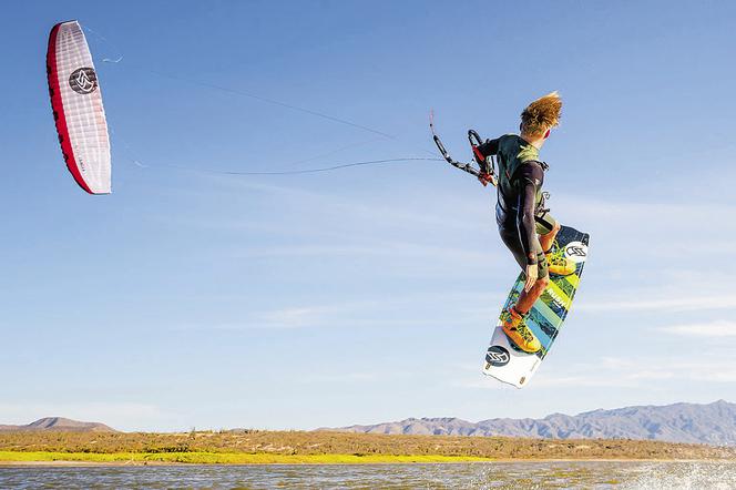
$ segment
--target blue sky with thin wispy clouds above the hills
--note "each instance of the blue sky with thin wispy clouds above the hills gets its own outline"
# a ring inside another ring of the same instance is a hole
[[[54,1],[3,18],[0,422],[309,429],[736,401],[733,3]],[[68,19],[94,31],[110,196],[76,187],[55,141],[44,53]],[[173,169],[432,156],[430,109],[464,159],[468,127],[512,132],[551,90],[545,186],[591,259],[523,390],[480,374],[518,266],[472,178],[439,162]]]

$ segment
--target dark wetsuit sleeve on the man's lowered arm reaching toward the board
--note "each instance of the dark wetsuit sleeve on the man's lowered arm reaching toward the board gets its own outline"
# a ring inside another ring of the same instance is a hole
[[[517,171],[517,185],[519,186],[519,202],[517,205],[517,226],[521,246],[524,249],[527,264],[536,264],[536,251],[542,247],[536,236],[534,223],[534,206],[536,190],[542,184],[544,171],[536,162],[525,162]]]

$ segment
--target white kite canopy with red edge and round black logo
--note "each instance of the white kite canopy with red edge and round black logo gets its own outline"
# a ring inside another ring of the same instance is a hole
[[[58,23],[47,53],[53,119],[67,167],[90,194],[110,194],[110,136],[92,54],[79,22]]]

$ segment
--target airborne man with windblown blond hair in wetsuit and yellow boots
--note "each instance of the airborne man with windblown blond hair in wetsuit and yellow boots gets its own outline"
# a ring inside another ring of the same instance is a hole
[[[521,113],[520,135],[505,134],[478,147],[483,156],[497,155],[495,221],[501,239],[527,276],[517,304],[501,314],[503,331],[530,354],[536,353],[541,344],[527,326],[529,310],[550,284],[550,274],[568,275],[575,270],[571,261],[551,254],[560,224],[543,208],[546,164],[539,160],[539,151],[552,127],[559,124],[561,111],[560,95],[546,94]],[[483,174],[480,180],[487,183]]]

